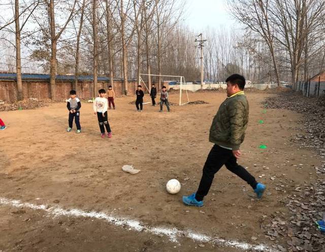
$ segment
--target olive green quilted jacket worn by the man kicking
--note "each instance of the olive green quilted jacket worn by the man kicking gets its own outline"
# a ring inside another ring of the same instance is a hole
[[[222,147],[239,150],[244,141],[249,106],[244,92],[227,98],[219,107],[210,128],[209,141]]]

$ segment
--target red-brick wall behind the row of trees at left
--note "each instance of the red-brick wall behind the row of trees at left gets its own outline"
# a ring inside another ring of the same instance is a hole
[[[57,101],[66,100],[69,97],[69,91],[72,89],[73,82],[57,81],[56,82],[56,98]],[[96,89],[107,89],[108,82],[98,82]],[[37,98],[39,100],[48,99],[50,97],[50,83],[48,81],[27,81],[23,80],[23,98]],[[128,93],[134,94],[137,89],[137,82],[128,82]],[[92,97],[93,83],[91,81],[83,81],[78,83],[77,96],[81,99],[89,99]],[[114,82],[114,90],[116,96],[122,96],[122,82]],[[17,83],[14,80],[0,80],[0,100],[6,102],[15,102],[17,100]]]

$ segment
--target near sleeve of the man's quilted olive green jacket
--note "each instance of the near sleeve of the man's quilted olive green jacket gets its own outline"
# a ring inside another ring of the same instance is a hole
[[[241,102],[236,102],[229,104],[228,109],[230,115],[230,143],[233,150],[239,150],[244,134],[245,107]]]

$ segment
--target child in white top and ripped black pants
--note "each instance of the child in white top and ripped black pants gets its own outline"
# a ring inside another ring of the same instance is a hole
[[[100,124],[100,129],[102,133],[102,138],[105,137],[105,128],[107,131],[107,137],[112,137],[111,127],[108,123],[108,116],[107,116],[107,108],[108,108],[108,101],[106,99],[106,91],[105,89],[100,89],[99,97],[97,97],[93,103],[93,112],[97,114],[98,122]],[[105,128],[104,128],[105,125]]]

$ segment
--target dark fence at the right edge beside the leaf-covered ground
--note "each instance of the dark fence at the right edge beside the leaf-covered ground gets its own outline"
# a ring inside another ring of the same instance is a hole
[[[320,97],[325,94],[325,81],[298,81],[295,90],[305,97]]]

